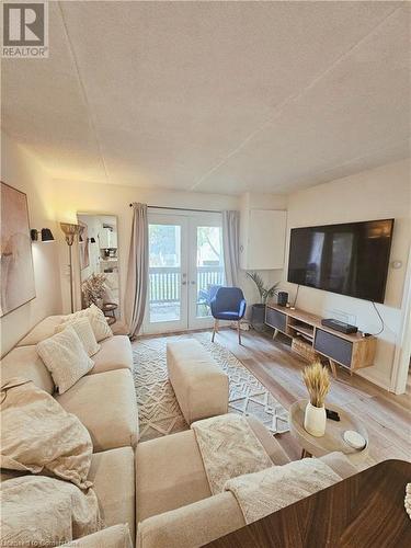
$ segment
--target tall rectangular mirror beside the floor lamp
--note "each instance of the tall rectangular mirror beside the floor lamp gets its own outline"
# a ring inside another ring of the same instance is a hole
[[[119,318],[117,217],[78,213],[77,219],[82,307],[94,302],[113,324]]]

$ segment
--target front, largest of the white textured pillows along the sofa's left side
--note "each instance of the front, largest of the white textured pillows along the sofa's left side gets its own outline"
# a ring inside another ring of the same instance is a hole
[[[70,326],[39,342],[36,349],[59,393],[66,392],[94,366]]]

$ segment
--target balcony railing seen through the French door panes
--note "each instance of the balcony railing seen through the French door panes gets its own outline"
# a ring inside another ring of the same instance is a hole
[[[149,269],[150,304],[180,301],[180,267],[170,266],[156,266]],[[224,285],[222,266],[197,267],[197,294],[199,289],[207,289],[209,285]]]

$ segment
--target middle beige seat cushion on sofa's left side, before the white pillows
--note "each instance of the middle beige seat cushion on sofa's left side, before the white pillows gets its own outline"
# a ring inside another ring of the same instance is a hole
[[[88,429],[94,452],[137,443],[137,401],[128,369],[88,375],[56,399]]]

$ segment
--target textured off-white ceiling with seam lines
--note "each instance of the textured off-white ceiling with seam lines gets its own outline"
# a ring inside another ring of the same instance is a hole
[[[4,130],[53,175],[289,192],[409,156],[404,2],[49,2]]]

